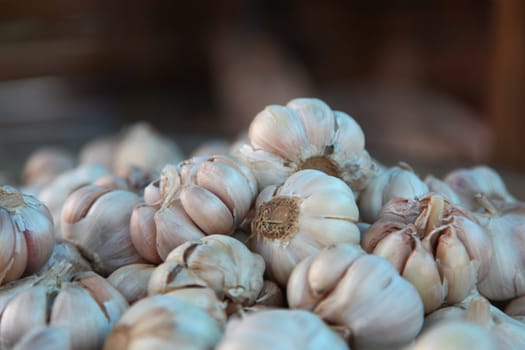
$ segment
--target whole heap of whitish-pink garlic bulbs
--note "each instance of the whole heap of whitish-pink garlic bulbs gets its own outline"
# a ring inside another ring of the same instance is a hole
[[[0,348],[523,349],[525,203],[488,166],[379,164],[266,107],[184,157],[146,123],[0,187]]]

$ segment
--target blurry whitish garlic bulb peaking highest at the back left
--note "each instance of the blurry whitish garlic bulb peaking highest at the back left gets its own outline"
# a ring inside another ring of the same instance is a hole
[[[152,125],[139,122],[123,131],[113,158],[113,169],[130,165],[146,172],[160,170],[165,164],[184,159],[179,146]]]

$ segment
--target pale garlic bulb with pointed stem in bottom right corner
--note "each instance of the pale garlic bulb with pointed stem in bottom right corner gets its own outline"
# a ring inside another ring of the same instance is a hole
[[[488,330],[496,338],[496,349],[525,349],[525,324],[506,315],[477,292],[473,292],[457,305],[444,307],[427,315],[423,331],[444,322],[458,320],[473,322]]]

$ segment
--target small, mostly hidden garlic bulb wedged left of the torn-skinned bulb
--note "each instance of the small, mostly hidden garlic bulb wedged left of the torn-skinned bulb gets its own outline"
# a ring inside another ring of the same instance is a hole
[[[129,264],[119,267],[107,280],[131,305],[148,294],[148,282],[155,269],[151,264]]]

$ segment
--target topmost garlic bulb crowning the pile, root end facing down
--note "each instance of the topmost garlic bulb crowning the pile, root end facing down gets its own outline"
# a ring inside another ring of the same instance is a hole
[[[296,171],[317,169],[358,192],[376,171],[361,127],[319,99],[267,106],[251,122],[248,136],[250,143],[238,152],[260,188],[281,184]]]

